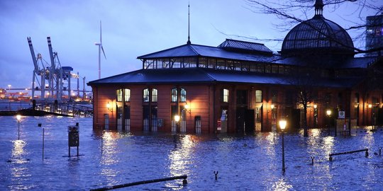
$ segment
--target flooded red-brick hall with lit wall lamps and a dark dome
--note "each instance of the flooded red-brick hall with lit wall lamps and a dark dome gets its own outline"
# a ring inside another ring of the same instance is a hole
[[[383,59],[354,57],[350,35],[322,11],[317,1],[313,18],[292,28],[278,53],[256,42],[187,41],[138,57],[142,69],[90,81],[94,129],[270,132],[282,118],[289,129],[333,127],[338,111],[357,125],[370,125],[374,112],[383,124],[383,79],[370,72]]]

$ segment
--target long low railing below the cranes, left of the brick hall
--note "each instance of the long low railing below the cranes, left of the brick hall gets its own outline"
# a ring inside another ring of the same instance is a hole
[[[32,109],[32,108],[31,108]],[[42,103],[35,106],[35,110],[50,112],[54,115],[65,115],[71,117],[92,117],[93,108],[74,103]]]

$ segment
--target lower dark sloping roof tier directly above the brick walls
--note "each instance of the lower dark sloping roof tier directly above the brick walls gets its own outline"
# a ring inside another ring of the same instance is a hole
[[[109,84],[146,84],[146,83],[259,83],[292,85],[292,77],[277,74],[257,74],[244,71],[228,71],[203,68],[184,69],[140,69],[105,79],[90,81],[88,85]],[[354,86],[360,78],[323,79],[316,81],[315,86],[344,87]]]

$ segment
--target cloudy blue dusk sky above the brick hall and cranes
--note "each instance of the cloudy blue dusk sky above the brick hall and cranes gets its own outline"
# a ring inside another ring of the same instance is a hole
[[[376,2],[383,6],[383,1]],[[187,42],[188,3],[187,0],[0,1],[0,88],[9,84],[12,88],[30,87],[33,61],[27,37],[31,37],[35,54],[41,53],[49,63],[46,37],[50,36],[62,66],[72,66],[74,73],[78,71],[81,78],[86,77],[86,82],[98,79],[99,51],[94,42],[99,41],[100,21],[106,53],[106,59],[101,59],[101,78],[141,69],[138,56]],[[287,32],[274,27],[281,21],[250,9],[248,2],[242,0],[191,0],[191,43],[217,46],[226,38],[233,38],[264,43],[279,51],[281,43],[255,38],[283,39]],[[350,3],[342,4],[335,12],[325,6],[323,16],[348,28],[353,22],[360,22],[355,10]],[[305,19],[301,13],[296,16]],[[307,17],[312,16],[313,9]],[[364,48],[364,42],[354,43]]]

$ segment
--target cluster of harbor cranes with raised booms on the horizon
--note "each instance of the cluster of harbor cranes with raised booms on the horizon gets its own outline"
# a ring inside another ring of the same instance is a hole
[[[78,79],[78,74],[72,74],[71,66],[61,66],[57,52],[53,52],[50,37],[48,40],[48,49],[50,54],[50,64],[45,62],[40,53],[35,56],[32,40],[27,37],[30,54],[33,59],[33,81],[32,81],[32,98],[35,99],[35,91],[41,92],[41,100],[57,100],[62,102],[65,99],[65,91],[67,91],[67,99],[70,99],[70,79]],[[37,83],[36,83],[37,82]]]

